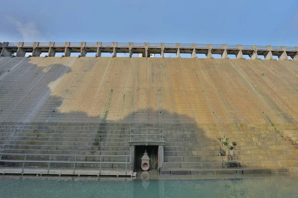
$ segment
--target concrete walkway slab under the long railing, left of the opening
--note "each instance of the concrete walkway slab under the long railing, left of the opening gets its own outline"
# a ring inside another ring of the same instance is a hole
[[[99,174],[99,170],[94,169],[84,169],[84,170],[73,170],[73,169],[33,169],[33,168],[0,168],[0,174],[31,174],[31,175],[87,175],[87,176],[126,176],[126,177],[136,177],[136,173],[132,170],[101,170],[101,174]]]

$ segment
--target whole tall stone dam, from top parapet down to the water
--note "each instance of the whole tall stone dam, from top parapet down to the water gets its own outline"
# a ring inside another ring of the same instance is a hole
[[[161,174],[298,172],[297,47],[7,42],[0,50],[2,174],[133,176],[145,149]]]

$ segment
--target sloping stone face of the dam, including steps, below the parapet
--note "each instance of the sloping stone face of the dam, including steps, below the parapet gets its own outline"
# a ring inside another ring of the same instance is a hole
[[[0,57],[0,151],[129,155],[131,128],[162,128],[162,170],[298,167],[297,74],[289,60]]]

